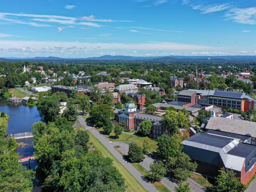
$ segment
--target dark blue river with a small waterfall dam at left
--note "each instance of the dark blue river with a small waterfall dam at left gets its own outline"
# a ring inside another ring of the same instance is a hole
[[[6,113],[11,118],[8,121],[8,128],[6,134],[30,132],[31,126],[38,121],[44,121],[44,116],[41,115],[36,106],[26,106],[20,104],[10,104],[8,101],[0,98],[0,112]],[[33,148],[33,138],[17,139],[18,143],[26,144],[24,148],[20,146],[15,151],[21,157],[33,155],[35,149]],[[29,168],[28,161],[23,162],[27,169]],[[36,160],[31,160],[31,169],[36,170]],[[32,192],[40,192],[42,186],[42,178],[36,173],[36,178],[33,180],[34,188]]]

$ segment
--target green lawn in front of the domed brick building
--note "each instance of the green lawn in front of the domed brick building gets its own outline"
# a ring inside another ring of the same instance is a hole
[[[125,134],[122,133],[118,139],[116,139],[115,137],[115,133],[112,132],[110,133],[110,135],[105,135],[107,138],[109,138],[110,141],[129,141],[129,142],[134,142],[140,146],[143,145],[143,141],[144,138],[147,137],[140,137],[140,136],[136,136],[136,135],[129,135],[129,134]],[[152,147],[149,149],[150,152],[156,151],[156,141],[149,139],[149,143],[152,145]]]

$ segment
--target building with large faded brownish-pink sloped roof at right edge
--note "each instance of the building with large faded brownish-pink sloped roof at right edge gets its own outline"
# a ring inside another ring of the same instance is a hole
[[[256,123],[251,121],[241,121],[238,119],[211,117],[207,123],[201,125],[202,131],[216,130],[220,132],[235,133],[251,137],[251,143],[256,142]]]

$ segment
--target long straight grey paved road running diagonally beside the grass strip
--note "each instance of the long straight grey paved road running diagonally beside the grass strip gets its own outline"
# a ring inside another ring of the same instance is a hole
[[[85,130],[89,130],[100,142],[120,161],[124,167],[137,179],[140,184],[149,192],[157,192],[158,190],[149,182],[143,180],[143,175],[135,169],[129,162],[124,160],[123,156],[111,145],[109,140],[102,134],[100,134],[94,127],[91,127],[86,123],[82,116],[77,117],[78,121],[84,125]]]

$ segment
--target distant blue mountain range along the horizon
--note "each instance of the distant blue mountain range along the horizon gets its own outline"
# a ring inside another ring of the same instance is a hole
[[[226,56],[157,56],[157,57],[134,57],[124,55],[103,55],[101,57],[88,57],[88,58],[60,58],[60,57],[2,57],[3,60],[154,60],[154,61],[173,61],[182,59],[218,59],[218,60],[256,60],[256,55],[226,55]]]

